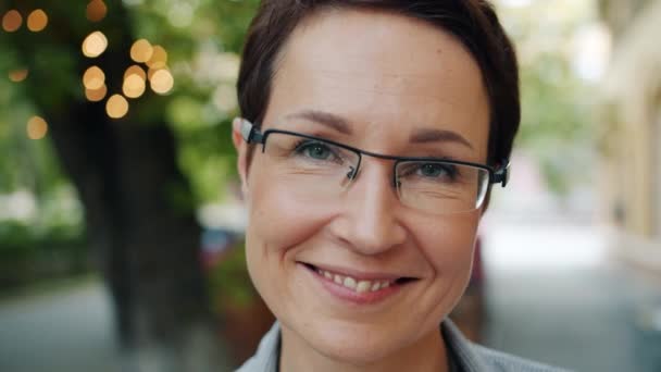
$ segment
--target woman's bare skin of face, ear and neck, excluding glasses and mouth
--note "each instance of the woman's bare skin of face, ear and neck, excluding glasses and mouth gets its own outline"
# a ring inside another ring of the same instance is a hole
[[[489,108],[476,62],[446,32],[402,15],[328,10],[309,17],[282,53],[271,97],[262,129],[385,154],[487,158]],[[342,131],[320,123],[336,116]],[[432,215],[402,206],[392,162],[371,157],[338,199],[298,200],[261,151],[248,163],[237,123],[233,139],[249,211],[248,268],[282,324],[280,369],[447,370],[438,325],[467,284],[482,210]],[[324,290],[303,262],[416,280],[361,306]]]

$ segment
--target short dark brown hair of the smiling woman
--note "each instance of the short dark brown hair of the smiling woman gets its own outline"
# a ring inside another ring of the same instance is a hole
[[[271,95],[274,64],[296,26],[328,8],[389,11],[422,20],[457,37],[477,62],[490,108],[488,162],[509,159],[521,121],[514,48],[485,0],[263,0],[252,20],[237,83],[241,115],[260,125]]]

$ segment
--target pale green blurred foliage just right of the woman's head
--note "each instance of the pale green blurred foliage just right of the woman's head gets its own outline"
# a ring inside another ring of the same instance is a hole
[[[589,177],[593,127],[587,88],[558,54],[540,55],[522,72],[523,117],[519,145],[539,162],[549,188],[560,195]]]

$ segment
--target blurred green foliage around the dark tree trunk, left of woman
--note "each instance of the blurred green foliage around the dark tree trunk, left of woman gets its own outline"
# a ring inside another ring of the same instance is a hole
[[[148,91],[130,100],[128,120],[132,125],[158,123],[174,129],[179,164],[194,191],[191,200],[185,185],[165,185],[164,191],[175,208],[186,212],[202,203],[220,201],[224,198],[224,185],[236,178],[229,126],[237,112],[234,85],[238,53],[259,1],[105,3],[108,15],[99,23],[85,17],[86,2],[47,0],[0,4],[0,15],[14,8],[24,20],[36,8],[49,15],[49,25],[40,33],[28,32],[25,24],[16,33],[0,30],[0,197],[24,190],[34,196],[37,214],[24,220],[0,215],[0,272],[4,273],[0,275],[1,283],[21,282],[22,273],[47,272],[29,268],[49,260],[82,260],[82,208],[65,206],[75,193],[60,168],[49,134],[43,139],[29,139],[26,125],[30,116],[40,114],[37,107],[61,112],[70,110],[72,102],[85,99],[82,73],[104,59],[104,54],[98,60],[80,59],[82,41],[93,30],[105,34],[108,50],[116,50],[126,41],[119,37],[124,32],[119,25],[126,25],[132,29],[133,40],[147,38],[152,45],[163,46],[169,53],[167,64],[175,77],[173,91],[166,97]],[[124,51],[126,55],[128,52]],[[28,70],[27,79],[10,82],[8,74],[18,69]],[[117,66],[117,71],[122,69],[124,66]],[[109,95],[121,87],[122,76],[115,75],[107,71]],[[154,117],[166,122],[163,124]],[[51,117],[45,120],[49,122]],[[62,194],[63,189],[66,195]],[[246,297],[240,295],[241,290],[229,293],[237,298]]]

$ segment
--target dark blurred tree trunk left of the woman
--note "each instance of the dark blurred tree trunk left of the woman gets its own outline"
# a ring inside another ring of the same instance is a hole
[[[120,345],[130,357],[128,369],[211,371],[220,363],[216,327],[199,260],[200,228],[173,134],[162,110],[142,115],[149,123],[133,121],[132,112],[114,121],[104,102],[80,97],[80,77],[91,64],[105,72],[109,95],[121,91],[132,45],[126,11],[121,1],[112,2],[103,21],[110,46],[99,59],[85,59],[79,46],[95,26],[72,20],[84,16],[80,4],[15,1],[22,14],[35,8],[49,14],[47,30],[10,36],[29,69],[23,84],[78,190],[88,239],[112,295]],[[52,69],[43,69],[50,59]],[[64,71],[53,71],[59,67]],[[71,84],[61,84],[67,73]],[[140,100],[149,99],[163,98]],[[141,103],[130,103],[136,102]]]

